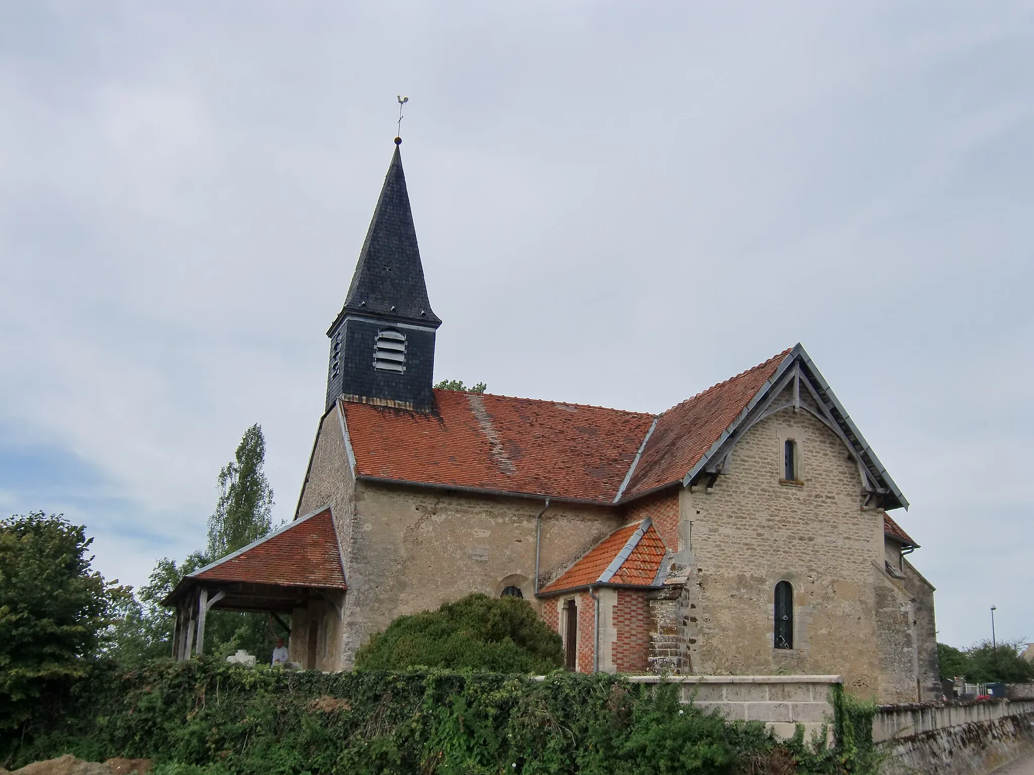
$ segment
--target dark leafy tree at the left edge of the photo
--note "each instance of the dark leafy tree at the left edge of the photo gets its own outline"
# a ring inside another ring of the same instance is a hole
[[[0,520],[0,730],[86,675],[130,594],[91,569],[92,540],[62,515]]]

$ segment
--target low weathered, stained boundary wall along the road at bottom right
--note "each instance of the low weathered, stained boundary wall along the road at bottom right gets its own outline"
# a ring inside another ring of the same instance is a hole
[[[1034,701],[881,706],[884,775],[983,775],[1034,752]]]

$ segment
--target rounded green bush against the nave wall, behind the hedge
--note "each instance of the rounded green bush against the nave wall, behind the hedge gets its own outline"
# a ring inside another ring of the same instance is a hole
[[[562,663],[560,637],[526,600],[484,594],[400,616],[356,654],[360,670],[424,665],[541,674]]]

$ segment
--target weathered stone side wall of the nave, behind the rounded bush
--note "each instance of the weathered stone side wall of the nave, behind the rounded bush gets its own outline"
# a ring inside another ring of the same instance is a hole
[[[542,501],[360,482],[355,504],[345,551],[344,664],[396,616],[436,609],[470,592],[497,596],[513,585],[541,609],[534,594]],[[619,524],[612,509],[551,504],[542,519],[541,585]],[[579,602],[579,610],[591,616],[591,606]]]

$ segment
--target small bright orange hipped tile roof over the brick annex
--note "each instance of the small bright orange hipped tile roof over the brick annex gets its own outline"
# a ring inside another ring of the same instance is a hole
[[[627,552],[620,565],[608,574],[622,550]],[[566,570],[547,584],[542,594],[562,592],[590,584],[631,584],[651,586],[657,579],[666,548],[657,528],[647,518],[618,528]]]

